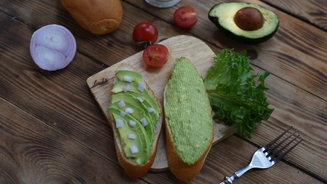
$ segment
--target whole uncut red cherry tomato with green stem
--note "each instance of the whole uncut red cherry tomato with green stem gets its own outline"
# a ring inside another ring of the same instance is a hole
[[[133,30],[133,39],[135,43],[144,45],[154,43],[158,38],[158,30],[148,21],[139,22]]]

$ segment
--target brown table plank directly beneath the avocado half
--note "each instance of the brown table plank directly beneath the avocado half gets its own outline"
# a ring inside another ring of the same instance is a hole
[[[310,93],[327,100],[327,32],[303,23],[303,21],[282,11],[268,6],[260,1],[245,1],[266,7],[277,14],[280,24],[273,38],[258,45],[246,45],[231,40],[219,30],[208,18],[207,14],[215,4],[225,1],[192,1],[180,2],[167,9],[158,9],[144,3],[142,0],[125,0],[134,6],[158,16],[177,27],[173,20],[174,11],[185,5],[196,7],[198,11],[197,24],[188,30],[192,35],[211,45],[213,50],[219,48],[233,48],[236,52],[248,50],[254,56],[251,63],[271,72]],[[229,1],[228,1],[229,2]],[[243,1],[242,1],[243,2]],[[159,13],[158,13],[159,12]],[[310,27],[310,32],[308,32]],[[179,29],[179,28],[174,28]],[[165,33],[164,33],[165,34]],[[316,47],[319,45],[319,47]],[[314,48],[314,49],[313,49]],[[302,75],[308,74],[308,75]]]

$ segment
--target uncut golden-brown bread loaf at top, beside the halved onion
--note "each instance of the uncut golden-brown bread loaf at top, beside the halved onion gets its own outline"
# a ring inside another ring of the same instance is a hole
[[[60,0],[63,7],[80,26],[95,34],[116,30],[122,21],[123,8],[119,0]]]

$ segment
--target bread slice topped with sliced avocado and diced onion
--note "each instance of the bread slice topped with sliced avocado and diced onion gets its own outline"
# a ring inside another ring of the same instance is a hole
[[[107,109],[119,163],[130,177],[147,173],[157,151],[162,107],[143,76],[130,64],[118,65]]]

